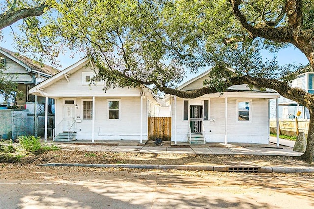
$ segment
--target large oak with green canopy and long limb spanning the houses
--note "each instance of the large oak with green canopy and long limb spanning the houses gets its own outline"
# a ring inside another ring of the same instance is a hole
[[[314,162],[314,95],[289,85],[298,73],[314,71],[312,0],[60,0],[53,7],[57,13],[34,34],[86,52],[107,88],[145,84],[195,98],[248,84],[306,106],[311,119],[301,157]],[[261,50],[288,45],[309,65],[262,60]],[[176,90],[187,72],[210,66],[203,88]]]

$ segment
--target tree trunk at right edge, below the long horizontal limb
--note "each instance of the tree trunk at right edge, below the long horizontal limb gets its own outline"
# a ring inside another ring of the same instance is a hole
[[[306,145],[305,153],[300,156],[301,159],[309,160],[310,164],[314,163],[314,107],[309,109],[310,112],[310,123],[308,131],[308,142]]]

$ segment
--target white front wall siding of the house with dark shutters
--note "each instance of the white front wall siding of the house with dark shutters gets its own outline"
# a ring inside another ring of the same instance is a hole
[[[209,98],[204,98],[204,100]],[[268,144],[268,99],[252,99],[252,120],[238,121],[236,99],[228,98],[227,103],[227,142]],[[188,141],[189,122],[183,121],[183,99],[177,99],[177,141]],[[190,100],[190,104],[193,99]],[[225,98],[210,98],[209,119],[204,121],[207,142],[224,142],[225,134]],[[174,120],[174,108],[172,108]],[[174,140],[174,121],[172,122],[172,140]],[[211,131],[211,132],[210,132]]]

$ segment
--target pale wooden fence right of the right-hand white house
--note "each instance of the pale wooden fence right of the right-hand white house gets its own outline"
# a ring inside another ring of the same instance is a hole
[[[309,120],[298,119],[299,132],[303,131],[305,137],[308,136]],[[276,119],[270,119],[270,133],[276,134]],[[279,134],[286,136],[296,136],[296,121],[295,119],[279,120]]]

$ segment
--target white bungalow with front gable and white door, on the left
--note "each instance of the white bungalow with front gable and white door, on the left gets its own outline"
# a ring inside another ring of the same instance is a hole
[[[93,64],[84,58],[29,90],[55,99],[54,140],[147,140],[147,117],[158,113],[158,101],[146,87],[103,90],[89,85]]]

